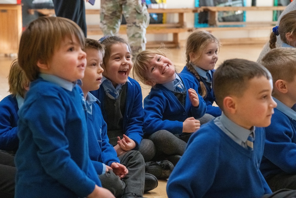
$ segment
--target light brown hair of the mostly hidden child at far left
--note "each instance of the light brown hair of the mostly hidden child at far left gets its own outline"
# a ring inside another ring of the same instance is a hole
[[[29,86],[30,81],[28,80],[25,72],[20,68],[17,59],[13,60],[9,69],[8,75],[9,92],[16,96],[20,94],[23,98],[25,97],[25,86]]]

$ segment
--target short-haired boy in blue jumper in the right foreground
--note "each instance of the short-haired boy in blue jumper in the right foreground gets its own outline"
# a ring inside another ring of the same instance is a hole
[[[168,197],[261,197],[271,193],[259,171],[265,131],[276,103],[271,75],[258,63],[231,59],[214,74],[223,113],[189,141],[167,184]],[[186,168],[184,168],[186,167]]]

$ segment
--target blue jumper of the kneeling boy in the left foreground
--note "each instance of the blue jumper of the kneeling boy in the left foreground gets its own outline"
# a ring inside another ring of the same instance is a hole
[[[19,110],[15,197],[86,197],[101,186],[89,159],[82,91],[42,78]]]

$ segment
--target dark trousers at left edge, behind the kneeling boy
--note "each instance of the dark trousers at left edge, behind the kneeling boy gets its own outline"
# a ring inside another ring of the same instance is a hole
[[[14,197],[15,174],[14,157],[0,152],[0,197]]]

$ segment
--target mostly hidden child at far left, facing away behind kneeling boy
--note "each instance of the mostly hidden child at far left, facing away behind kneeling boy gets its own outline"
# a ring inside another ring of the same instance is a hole
[[[0,150],[15,153],[18,148],[17,111],[24,103],[26,92],[29,90],[29,80],[17,63],[12,61],[8,75],[9,96],[0,102]]]

